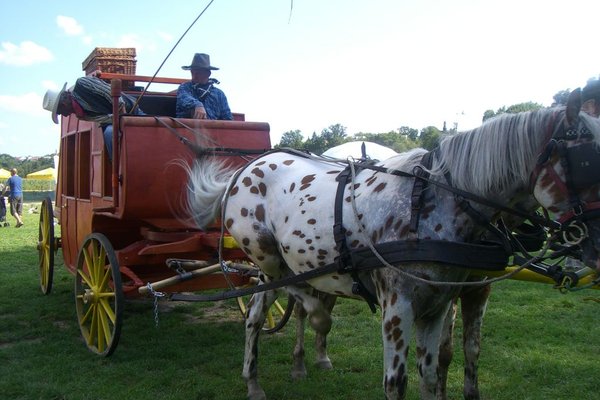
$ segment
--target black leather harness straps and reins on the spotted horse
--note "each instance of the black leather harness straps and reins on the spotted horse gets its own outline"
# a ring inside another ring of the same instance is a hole
[[[585,127],[584,127],[585,128]],[[552,132],[552,139],[550,140],[550,142],[548,143],[548,145],[546,146],[545,150],[542,152],[542,154],[540,154],[540,156],[538,157],[538,167],[536,168],[536,170],[534,171],[534,175],[539,175],[539,172],[545,168],[543,165],[546,164],[548,162],[548,160],[550,159],[552,153],[554,152],[555,148],[555,142],[556,142],[556,137],[560,136],[557,135],[557,130],[556,129],[554,132]],[[569,129],[567,132],[572,132],[572,129]],[[576,131],[579,132],[579,131]],[[578,137],[581,137],[578,135]],[[185,143],[186,145],[190,146],[191,143]],[[565,146],[565,149],[568,150]],[[194,149],[196,151],[198,151],[198,149]],[[224,151],[224,152],[228,152],[228,151],[235,151],[235,149],[202,149],[202,153],[206,154],[206,153],[212,153],[214,154],[215,151]],[[531,214],[531,213],[527,213],[518,209],[514,209],[514,208],[510,208],[507,206],[504,206],[502,204],[499,204],[495,201],[483,198],[482,196],[479,195],[475,195],[471,192],[467,192],[465,190],[462,189],[458,189],[455,187],[452,187],[449,184],[443,183],[441,181],[436,181],[436,180],[432,180],[430,178],[429,172],[427,171],[427,166],[424,165],[419,165],[413,168],[412,172],[405,172],[405,171],[401,171],[401,170],[397,170],[397,169],[392,169],[392,168],[386,168],[386,167],[382,167],[382,166],[376,166],[376,165],[372,165],[370,163],[365,163],[365,162],[361,162],[361,163],[356,163],[354,161],[350,161],[350,160],[336,160],[336,159],[325,159],[323,157],[314,157],[310,154],[306,154],[306,153],[302,153],[300,151],[294,150],[294,149],[280,149],[279,151],[286,151],[295,155],[299,155],[299,156],[303,156],[306,158],[313,158],[313,159],[319,159],[321,161],[325,161],[325,162],[333,162],[333,163],[346,163],[347,165],[347,170],[350,171],[350,175],[351,175],[351,181],[350,181],[350,190],[351,190],[351,204],[352,204],[352,208],[353,208],[353,212],[354,212],[354,217],[356,219],[356,223],[362,226],[362,223],[360,222],[360,219],[358,218],[358,210],[356,209],[356,203],[355,203],[355,193],[354,193],[354,182],[356,179],[356,168],[360,168],[360,169],[370,169],[376,172],[381,172],[381,173],[386,173],[386,174],[391,174],[391,175],[395,175],[395,176],[400,176],[400,177],[405,177],[405,178],[413,178],[415,179],[415,183],[416,182],[420,182],[419,186],[416,190],[413,190],[413,202],[416,200],[420,200],[420,194],[422,193],[422,191],[424,190],[424,188],[426,187],[426,185],[431,184],[434,186],[437,186],[441,189],[444,189],[450,193],[453,193],[455,196],[457,196],[457,199],[463,199],[463,200],[470,200],[473,202],[476,202],[478,204],[481,204],[483,206],[487,206],[490,208],[493,208],[495,210],[501,211],[501,212],[505,212],[507,214],[510,215],[515,215],[517,217],[526,219],[531,221],[534,224],[537,225],[541,225],[547,228],[550,228],[553,231],[558,232],[563,232],[563,236],[565,237],[565,242],[567,242],[567,244],[578,244],[581,240],[583,240],[585,238],[585,236],[587,235],[587,230],[585,232],[581,232],[580,234],[575,234],[574,236],[579,236],[579,239],[577,241],[571,241],[569,242],[568,240],[566,240],[566,234],[565,234],[565,224],[568,223],[569,221],[571,221],[573,218],[584,218],[584,219],[593,219],[593,218],[598,218],[600,217],[600,202],[598,203],[593,203],[591,205],[591,207],[587,207],[585,209],[582,209],[580,213],[577,212],[576,208],[573,208],[573,214],[574,217],[570,217],[569,218],[561,218],[559,221],[553,221],[550,218],[546,217],[541,217],[537,214]],[[272,151],[269,151],[265,154],[271,153]],[[431,153],[431,152],[430,152]],[[427,153],[427,154],[430,154]],[[566,173],[566,180],[568,180],[569,176],[571,176],[570,173],[568,173],[568,171],[570,171],[569,169],[567,169],[567,163],[568,163],[568,155],[567,152],[563,152],[560,154],[561,156],[561,162],[562,162],[562,166],[563,169],[565,169]],[[427,156],[428,158],[431,158],[431,155]],[[563,161],[563,159],[565,159],[566,161]],[[600,161],[599,161],[600,163]],[[242,168],[244,169],[244,168]],[[239,173],[240,171],[238,171]],[[341,175],[344,174],[344,172],[341,173]],[[346,172],[346,177],[348,176],[348,173]],[[345,179],[339,179],[340,177],[338,177],[338,192],[336,194],[336,198],[339,198],[340,196],[343,195],[343,188],[346,186],[347,182],[346,182],[346,178]],[[537,178],[537,177],[536,177]],[[600,179],[599,179],[600,180]],[[343,181],[343,182],[342,182]],[[570,186],[570,188],[569,188]],[[572,183],[567,184],[567,186],[570,191],[573,190],[573,186]],[[341,191],[341,195],[340,195],[340,191]],[[415,194],[416,193],[416,194]],[[418,194],[418,196],[417,196]],[[419,197],[419,199],[417,199],[417,197]],[[572,198],[572,196],[569,196],[570,198]],[[466,202],[466,201],[465,201]],[[337,210],[337,208],[341,207],[338,206],[338,203],[340,203],[339,201],[336,201],[336,214],[340,213],[340,210]],[[581,202],[578,202],[578,204],[581,206]],[[418,207],[417,207],[418,208]],[[586,212],[587,214],[585,216],[583,216],[583,212]],[[418,213],[418,212],[417,212]],[[414,213],[413,213],[413,217],[414,217]],[[564,217],[564,216],[563,216]],[[417,220],[416,220],[416,224],[418,224],[418,215],[417,215]],[[413,222],[411,221],[411,226],[413,226]],[[573,229],[571,224],[566,224],[566,229]],[[583,225],[585,227],[585,225]],[[239,296],[244,296],[244,295],[249,295],[249,294],[254,294],[254,293],[259,293],[259,292],[263,292],[263,291],[267,291],[267,290],[275,290],[275,289],[279,289],[282,288],[284,286],[289,286],[289,285],[296,285],[296,284],[300,284],[302,282],[306,282],[308,280],[314,279],[314,278],[318,278],[324,275],[328,275],[331,273],[351,273],[353,276],[353,279],[355,280],[355,284],[353,286],[353,292],[355,294],[361,295],[363,296],[363,298],[365,298],[365,300],[367,300],[367,302],[369,303],[369,305],[371,306],[371,308],[373,309],[373,296],[372,294],[368,293],[368,291],[365,289],[364,285],[362,285],[362,283],[360,282],[360,279],[358,278],[358,273],[361,271],[366,271],[366,270],[372,270],[373,268],[378,268],[378,267],[390,267],[390,268],[395,268],[394,265],[392,265],[386,258],[384,258],[384,255],[382,255],[381,253],[385,253],[385,256],[388,257],[388,259],[391,257],[392,258],[392,262],[402,262],[402,261],[427,261],[428,258],[426,256],[420,258],[419,260],[406,260],[406,259],[402,259],[401,256],[397,256],[398,253],[398,249],[397,246],[400,243],[400,246],[403,243],[406,243],[406,241],[402,241],[402,242],[389,242],[387,243],[388,246],[393,246],[396,247],[395,249],[393,249],[393,251],[386,251],[387,247],[384,247],[384,245],[386,245],[386,243],[383,244],[379,244],[379,245],[375,245],[371,239],[366,235],[365,230],[359,230],[359,232],[361,232],[361,234],[364,236],[364,240],[368,245],[368,250],[377,258],[377,260],[379,261],[379,263],[374,263],[372,262],[372,260],[370,262],[367,262],[366,264],[363,263],[363,265],[357,267],[356,265],[354,265],[354,262],[352,260],[352,255],[353,253],[356,254],[356,250],[354,252],[349,252],[347,249],[347,246],[344,245],[345,243],[345,229],[343,228],[343,225],[341,224],[341,220],[339,220],[337,217],[335,219],[335,225],[334,225],[334,238],[336,241],[336,247],[338,248],[338,251],[340,253],[340,255],[336,258],[336,261],[328,264],[322,268],[319,269],[315,269],[315,270],[310,270],[307,272],[303,272],[297,275],[291,275],[291,276],[287,276],[284,277],[282,279],[276,280],[276,281],[271,281],[268,283],[264,283],[255,287],[250,287],[250,288],[243,288],[243,289],[234,289],[234,290],[229,290],[226,292],[221,292],[221,293],[215,293],[215,294],[210,294],[210,295],[183,295],[183,294],[173,294],[171,295],[170,299],[171,300],[186,300],[186,301],[215,301],[215,300],[224,300],[224,299],[229,299],[229,298],[235,298],[235,297],[239,297]],[[510,235],[512,235],[512,233],[510,232],[506,232]],[[514,238],[514,237],[513,237]],[[343,240],[342,240],[343,239]],[[516,240],[516,239],[515,239]],[[396,270],[404,277],[413,279],[415,281],[421,282],[421,283],[425,283],[428,285],[434,285],[434,286],[482,286],[482,285],[489,285],[493,282],[497,282],[497,281],[501,281],[501,280],[505,280],[505,279],[509,279],[513,276],[515,276],[516,274],[518,274],[519,272],[521,272],[523,269],[525,268],[529,268],[532,265],[535,265],[536,263],[538,263],[539,261],[545,259],[546,257],[546,253],[548,252],[548,250],[550,249],[551,245],[552,245],[552,237],[548,238],[545,241],[544,244],[544,248],[540,251],[540,253],[536,256],[531,257],[529,260],[527,260],[524,264],[520,265],[518,268],[514,269],[513,271],[502,275],[500,277],[497,278],[493,278],[493,279],[487,279],[484,278],[481,281],[477,281],[477,282],[441,282],[441,281],[431,281],[429,279],[424,279],[424,278],[420,278],[418,276],[415,276],[411,273],[408,273],[406,271],[403,271],[400,268],[396,268]],[[460,243],[460,244],[465,244],[465,243]],[[468,245],[468,244],[465,244]],[[378,248],[379,247],[379,248]],[[522,246],[521,246],[522,247]],[[365,249],[359,249],[359,250],[365,250]],[[221,251],[219,251],[219,257],[221,258]],[[348,263],[348,261],[350,261],[350,263]],[[434,260],[435,261],[435,260]],[[350,266],[348,266],[348,264],[350,264]],[[223,272],[226,273],[226,269],[223,268]]]

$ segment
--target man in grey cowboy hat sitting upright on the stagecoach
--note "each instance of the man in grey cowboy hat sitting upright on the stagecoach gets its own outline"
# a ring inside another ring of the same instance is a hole
[[[211,72],[219,68],[210,65],[208,54],[194,54],[192,63],[181,69],[190,71],[192,80],[177,89],[178,118],[233,119],[225,93],[214,87],[219,81],[210,78]]]

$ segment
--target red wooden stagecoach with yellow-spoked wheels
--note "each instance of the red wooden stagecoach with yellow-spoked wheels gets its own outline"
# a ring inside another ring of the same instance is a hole
[[[135,82],[151,79],[104,72],[97,76],[112,81],[115,99],[121,88],[140,97]],[[153,79],[164,84],[184,81]],[[110,355],[117,346],[124,298],[140,296],[148,282],[160,282],[154,288],[165,292],[256,282],[255,270],[231,237],[223,237],[222,259],[236,262],[219,265],[220,227],[200,231],[185,214],[183,165],[195,157],[185,144],[189,141],[198,148],[240,150],[223,159],[241,166],[252,153],[270,148],[269,125],[247,122],[243,114],[234,114],[234,121],[177,119],[175,101],[175,90],[145,92],[139,106],[147,115],[119,117],[115,112],[112,159],[98,124],[75,116],[61,121],[56,204],[47,198],[40,211],[40,284],[49,294],[54,253],[62,248],[64,264],[75,275],[81,333],[90,350],[101,355]],[[54,217],[61,225],[60,238],[54,235]],[[265,329],[283,326],[291,306],[291,301],[285,309],[276,304],[276,315]]]

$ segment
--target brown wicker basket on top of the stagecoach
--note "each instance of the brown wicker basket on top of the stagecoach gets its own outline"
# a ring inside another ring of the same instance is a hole
[[[86,75],[95,71],[135,75],[135,48],[96,47],[81,64]]]

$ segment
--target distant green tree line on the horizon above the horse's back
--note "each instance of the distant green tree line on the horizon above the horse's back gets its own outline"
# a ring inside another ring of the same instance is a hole
[[[571,91],[569,89],[561,90],[553,96],[552,106],[567,104],[567,98]],[[501,107],[494,110],[486,110],[481,118],[482,122],[490,118],[505,113],[520,113],[524,111],[535,111],[544,106],[532,101],[525,103],[513,104],[509,107]],[[298,129],[285,132],[281,136],[280,142],[275,145],[276,148],[291,147],[299,150],[310,151],[314,154],[322,154],[327,149],[330,149],[340,144],[352,141],[369,141],[389,147],[398,153],[405,152],[415,147],[422,147],[427,150],[432,150],[439,144],[443,135],[452,135],[457,132],[456,126],[447,129],[446,123],[442,129],[435,126],[427,126],[421,130],[402,126],[397,130],[380,133],[365,133],[359,132],[349,136],[346,132],[346,127],[341,124],[333,124],[321,131],[320,134],[313,132],[308,138],[304,138],[302,132]]]

